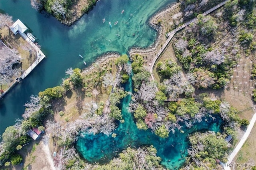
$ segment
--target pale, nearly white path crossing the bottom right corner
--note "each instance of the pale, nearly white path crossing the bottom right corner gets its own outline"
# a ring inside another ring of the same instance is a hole
[[[246,132],[244,133],[244,135],[242,136],[240,142],[238,143],[238,145],[236,146],[236,148],[233,150],[233,152],[230,154],[230,156],[228,157],[228,162],[225,164],[224,170],[231,170],[230,167],[227,167],[228,164],[231,164],[232,160],[234,159],[234,157],[236,156],[236,154],[238,153],[238,151],[242,148],[244,142],[246,141],[246,139],[248,138],[254,124],[256,122],[256,113],[253,115],[250,124],[248,125]]]

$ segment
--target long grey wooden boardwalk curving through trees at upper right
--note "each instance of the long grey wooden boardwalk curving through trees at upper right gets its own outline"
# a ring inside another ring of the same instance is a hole
[[[214,10],[220,8],[220,7],[223,6],[224,4],[226,4],[226,2],[228,2],[228,0],[226,0],[226,1],[224,1],[224,2],[222,2],[222,3],[220,3],[220,4],[218,4],[218,5],[216,5],[216,6],[214,6],[214,7],[211,8],[210,10],[207,10],[207,11],[204,12],[202,15],[203,15],[203,16],[206,16],[206,15],[209,14],[210,12],[212,12],[212,11],[214,11]],[[155,80],[154,75],[153,75],[153,69],[154,69],[155,63],[156,63],[156,61],[158,60],[159,56],[160,56],[160,55],[162,54],[162,52],[164,51],[164,49],[166,48],[166,46],[168,45],[168,43],[172,40],[174,34],[175,34],[177,31],[179,31],[179,30],[185,28],[186,26],[188,26],[190,23],[195,22],[196,20],[197,20],[197,18],[194,18],[194,19],[190,20],[189,22],[186,22],[186,23],[183,24],[182,26],[179,26],[178,28],[172,30],[171,32],[169,32],[169,33],[166,35],[166,36],[168,37],[167,40],[166,40],[166,42],[165,42],[164,45],[161,47],[160,51],[158,51],[158,53],[156,54],[156,57],[154,57],[154,59],[153,59],[153,61],[152,61],[152,63],[151,63],[151,66],[150,66],[150,75],[151,75],[152,80]]]

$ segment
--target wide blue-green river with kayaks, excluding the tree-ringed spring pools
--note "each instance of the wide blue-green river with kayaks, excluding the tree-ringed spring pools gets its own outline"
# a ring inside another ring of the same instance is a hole
[[[68,67],[84,68],[78,54],[83,55],[87,65],[90,65],[107,51],[123,54],[126,48],[133,45],[151,45],[156,32],[149,28],[147,20],[172,2],[174,0],[101,0],[88,15],[68,27],[52,16],[31,8],[30,0],[0,0],[0,9],[13,16],[14,21],[20,19],[31,29],[47,56],[21,84],[1,99],[0,134],[13,125],[16,118],[22,118],[24,104],[30,95],[59,85]],[[123,9],[124,14],[121,14]],[[133,14],[132,17],[130,14]],[[106,19],[104,24],[103,18]],[[116,21],[118,24],[114,25]],[[108,22],[112,23],[112,28]],[[120,35],[119,39],[116,34]]]

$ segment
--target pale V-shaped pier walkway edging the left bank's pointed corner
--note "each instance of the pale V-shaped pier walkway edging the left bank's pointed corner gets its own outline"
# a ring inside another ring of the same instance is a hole
[[[44,53],[36,46],[36,44],[34,44],[30,38],[28,38],[28,36],[25,33],[21,33],[19,32],[20,35],[28,42],[30,43],[30,45],[35,49],[36,51],[36,61],[34,63],[32,63],[32,65],[30,65],[30,67],[28,67],[28,69],[20,76],[22,79],[24,79],[35,67],[36,65],[38,65],[42,59],[44,59],[46,56],[44,55]]]

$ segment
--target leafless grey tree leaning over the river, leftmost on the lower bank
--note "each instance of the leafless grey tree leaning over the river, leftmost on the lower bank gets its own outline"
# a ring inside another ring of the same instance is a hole
[[[22,115],[24,119],[28,119],[32,115],[32,113],[39,111],[42,107],[39,97],[34,95],[30,96],[30,101],[25,103],[24,106],[26,107],[26,110]]]

